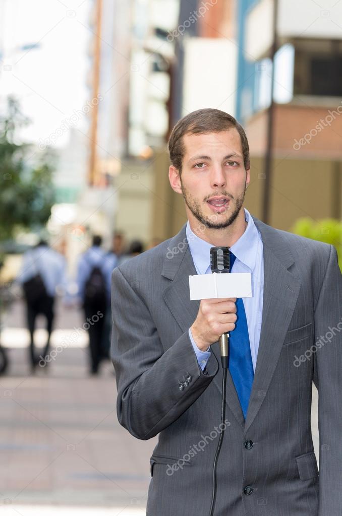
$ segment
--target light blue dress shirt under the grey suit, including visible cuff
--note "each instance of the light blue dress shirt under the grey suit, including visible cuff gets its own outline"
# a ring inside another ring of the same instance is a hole
[[[263,246],[261,235],[253,218],[251,217],[251,214],[246,208],[244,208],[244,212],[247,227],[236,243],[230,247],[230,251],[236,256],[231,272],[251,272],[252,275],[252,297],[243,298],[243,305],[246,312],[253,370],[255,372],[262,319]],[[197,274],[211,273],[210,248],[213,247],[213,244],[209,244],[195,235],[190,228],[189,221],[186,224],[186,239],[188,240],[189,249]],[[190,328],[189,336],[196,353],[198,364],[203,370],[210,357],[210,346],[207,351],[201,351],[193,339]]]

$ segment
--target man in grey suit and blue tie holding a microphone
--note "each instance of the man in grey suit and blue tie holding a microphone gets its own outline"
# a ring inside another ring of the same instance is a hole
[[[174,127],[169,153],[169,181],[184,198],[188,223],[112,277],[118,419],[138,439],[159,433],[147,515],[209,515],[221,421],[217,340],[230,332],[215,516],[338,516],[342,281],[336,250],[273,229],[243,208],[248,143],[230,115],[192,112]],[[251,298],[190,301],[188,277],[210,273],[211,246],[230,248],[232,272],[252,274]],[[313,381],[319,477],[310,429]]]

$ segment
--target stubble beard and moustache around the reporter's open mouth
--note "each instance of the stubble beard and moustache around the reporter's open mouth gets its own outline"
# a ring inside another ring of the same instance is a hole
[[[182,188],[182,194],[184,197],[184,201],[186,206],[190,209],[191,213],[194,215],[194,217],[200,222],[201,224],[204,224],[208,229],[225,229],[228,228],[237,218],[237,216],[240,213],[245,193],[246,193],[246,183],[244,186],[244,191],[241,193],[240,196],[237,198],[232,197],[228,192],[219,192],[219,193],[213,193],[210,197],[217,195],[217,196],[226,196],[230,199],[230,203],[228,205],[228,209],[223,211],[222,213],[212,214],[209,217],[206,217],[204,213],[201,211],[199,202],[194,199],[191,194],[184,188],[182,182],[181,182],[181,188]],[[223,215],[230,209],[231,201],[235,201],[234,203],[234,209],[229,215],[228,218],[219,221],[220,218],[223,218]],[[205,199],[206,202],[206,199]]]

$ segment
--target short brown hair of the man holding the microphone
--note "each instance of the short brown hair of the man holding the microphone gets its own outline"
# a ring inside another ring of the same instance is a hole
[[[235,128],[241,138],[243,163],[246,170],[250,168],[250,148],[242,125],[225,111],[220,109],[197,109],[179,120],[168,140],[168,152],[172,165],[179,173],[185,154],[183,136],[185,134],[220,133]]]

